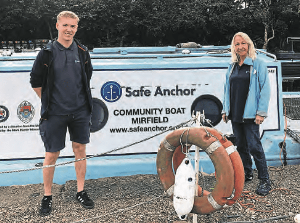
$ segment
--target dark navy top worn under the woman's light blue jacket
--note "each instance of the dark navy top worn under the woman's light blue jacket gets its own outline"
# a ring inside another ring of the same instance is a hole
[[[252,123],[254,119],[244,119],[245,104],[250,85],[250,65],[238,63],[234,65],[230,81],[230,113],[228,118],[232,122]]]

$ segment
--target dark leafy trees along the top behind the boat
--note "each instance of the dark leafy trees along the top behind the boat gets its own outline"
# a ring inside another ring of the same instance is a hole
[[[1,0],[0,39],[55,38],[63,10],[79,16],[76,38],[94,47],[229,45],[241,31],[272,51],[300,37],[299,0]]]

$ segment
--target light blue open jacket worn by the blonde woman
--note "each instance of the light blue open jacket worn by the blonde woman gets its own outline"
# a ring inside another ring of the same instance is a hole
[[[256,114],[267,117],[270,100],[270,83],[266,65],[259,59],[252,60],[246,57],[244,64],[250,65],[250,85],[245,104],[243,120],[245,118],[255,118]],[[222,114],[228,116],[230,111],[230,82],[235,63],[231,63],[226,73],[224,86],[224,100]]]

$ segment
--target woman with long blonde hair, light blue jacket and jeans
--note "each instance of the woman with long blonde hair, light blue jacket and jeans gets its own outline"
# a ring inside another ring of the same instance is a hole
[[[259,125],[267,117],[270,86],[266,66],[256,59],[252,40],[244,33],[234,35],[231,43],[232,63],[226,74],[222,117],[231,120],[237,150],[245,171],[245,181],[253,179],[252,159],[260,183],[256,192],[267,195],[271,188]]]

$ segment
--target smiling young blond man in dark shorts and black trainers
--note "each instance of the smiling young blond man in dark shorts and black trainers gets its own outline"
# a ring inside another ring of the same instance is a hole
[[[41,98],[39,131],[46,149],[43,166],[56,164],[60,150],[65,147],[67,129],[75,159],[86,157],[85,144],[90,141],[93,67],[87,48],[74,39],[78,21],[73,12],[59,13],[56,22],[58,38],[39,52],[30,73],[31,86]],[[54,170],[55,167],[43,169],[41,216],[51,213]],[[75,171],[77,200],[91,209],[94,202],[84,191],[86,160],[75,162]]]

